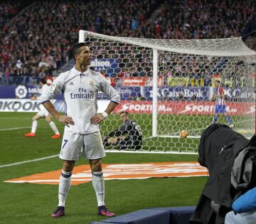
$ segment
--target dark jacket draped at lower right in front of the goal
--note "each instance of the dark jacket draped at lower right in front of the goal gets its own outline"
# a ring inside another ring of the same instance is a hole
[[[209,172],[191,223],[224,223],[225,214],[237,193],[230,184],[235,156],[249,140],[225,124],[212,124],[203,131],[198,162]]]

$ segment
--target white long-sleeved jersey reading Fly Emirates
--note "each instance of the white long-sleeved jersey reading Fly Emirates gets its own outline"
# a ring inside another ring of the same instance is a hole
[[[74,125],[65,126],[65,131],[78,134],[89,134],[100,130],[98,124],[91,124],[90,119],[97,114],[97,93],[102,91],[112,102],[120,102],[119,93],[103,76],[90,70],[85,73],[75,67],[60,73],[47,92],[42,92],[41,103],[53,99],[58,92],[63,92],[66,114],[73,118]]]

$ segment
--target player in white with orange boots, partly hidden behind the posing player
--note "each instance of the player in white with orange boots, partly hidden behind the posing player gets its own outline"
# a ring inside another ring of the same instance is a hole
[[[41,87],[41,95],[44,92],[47,92],[48,85],[46,84],[46,80],[42,78],[40,80],[40,87]],[[37,96],[33,95],[31,97],[31,100],[37,100]],[[32,118],[32,127],[31,132],[25,134],[25,137],[36,137],[36,129],[38,127],[38,119],[45,118],[46,122],[50,125],[51,129],[53,129],[53,132],[55,133],[52,136],[52,139],[58,139],[61,137],[60,132],[58,131],[58,128],[56,127],[55,123],[51,120],[49,112],[46,110],[45,107],[41,106],[41,111],[38,112],[33,118]]]

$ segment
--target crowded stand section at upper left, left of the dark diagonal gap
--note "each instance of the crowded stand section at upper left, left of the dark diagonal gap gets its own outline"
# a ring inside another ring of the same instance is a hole
[[[33,1],[10,19],[2,32],[0,84],[33,83],[53,75],[70,59],[70,45],[78,42],[80,28],[117,34],[130,26],[135,28],[137,17],[146,18],[156,6],[150,0],[144,1],[146,8],[142,3],[125,2],[112,6],[111,1]],[[111,10],[97,10],[107,8]]]

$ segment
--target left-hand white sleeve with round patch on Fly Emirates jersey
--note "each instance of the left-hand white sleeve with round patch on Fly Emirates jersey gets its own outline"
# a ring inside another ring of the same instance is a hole
[[[40,102],[47,102],[53,99],[55,95],[61,92],[64,88],[65,80],[64,75],[61,73],[58,78],[56,78],[53,83],[48,87],[47,91],[43,91],[40,97]]]

